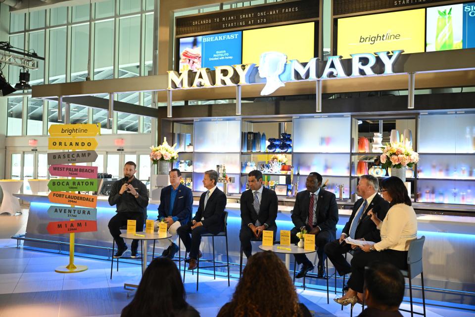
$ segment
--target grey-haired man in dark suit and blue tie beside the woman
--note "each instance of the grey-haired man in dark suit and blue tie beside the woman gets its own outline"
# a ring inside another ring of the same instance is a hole
[[[367,213],[373,210],[381,220],[384,219],[389,209],[389,203],[378,195],[378,179],[372,175],[363,175],[360,177],[356,193],[361,199],[353,205],[351,216],[341,231],[338,240],[329,242],[325,246],[325,253],[340,275],[351,272],[351,265],[343,257],[343,254],[355,249],[355,246],[344,242],[345,238],[360,239],[366,241],[381,241],[380,230],[376,228],[371,217]]]

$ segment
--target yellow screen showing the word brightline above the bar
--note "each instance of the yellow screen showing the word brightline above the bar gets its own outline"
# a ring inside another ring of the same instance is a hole
[[[425,9],[416,9],[338,19],[336,54],[424,52],[425,17]]]

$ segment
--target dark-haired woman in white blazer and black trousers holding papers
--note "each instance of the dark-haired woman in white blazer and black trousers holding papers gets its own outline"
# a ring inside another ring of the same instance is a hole
[[[391,176],[381,181],[380,193],[389,202],[384,220],[368,211],[371,220],[380,230],[381,241],[374,245],[364,245],[351,260],[351,277],[348,292],[335,302],[351,306],[363,302],[365,266],[374,261],[389,262],[400,269],[407,269],[407,251],[410,241],[417,238],[416,212],[411,207],[411,199],[401,179]]]

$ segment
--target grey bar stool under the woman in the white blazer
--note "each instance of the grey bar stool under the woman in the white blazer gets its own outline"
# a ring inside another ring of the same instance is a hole
[[[424,271],[422,267],[422,253],[424,249],[424,242],[426,241],[426,237],[422,236],[419,239],[412,240],[409,243],[409,250],[407,252],[407,270],[401,270],[401,273],[404,277],[409,280],[409,296],[411,302],[411,310],[404,310],[399,309],[403,312],[411,313],[411,317],[416,315],[422,315],[426,317],[426,297],[424,294]],[[421,274],[421,287],[422,287],[422,307],[423,313],[414,312],[413,304],[412,304],[412,282],[411,280]]]

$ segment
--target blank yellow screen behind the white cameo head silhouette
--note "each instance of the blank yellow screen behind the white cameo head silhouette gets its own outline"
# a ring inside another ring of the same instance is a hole
[[[281,52],[287,60],[307,62],[315,56],[315,22],[242,31],[242,63],[259,64],[264,52]]]

